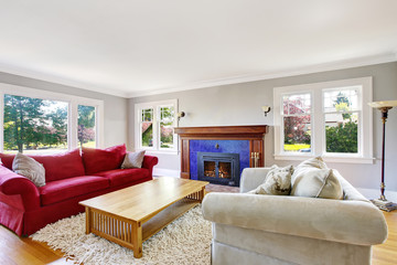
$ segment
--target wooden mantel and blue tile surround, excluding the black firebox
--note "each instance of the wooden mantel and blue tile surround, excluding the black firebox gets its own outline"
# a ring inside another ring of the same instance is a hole
[[[267,131],[267,125],[174,128],[180,138],[181,178],[198,179],[197,152],[238,153],[238,176],[245,168],[264,167]]]

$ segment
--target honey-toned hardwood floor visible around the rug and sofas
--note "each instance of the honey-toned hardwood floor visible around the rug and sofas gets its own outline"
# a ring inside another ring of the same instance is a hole
[[[238,188],[207,186],[207,191],[238,192]],[[384,212],[388,225],[388,240],[373,247],[374,265],[395,265],[397,261],[397,211]],[[0,225],[0,264],[39,265],[73,264],[66,261],[61,251],[53,251],[44,243],[28,237],[20,239],[13,232]]]

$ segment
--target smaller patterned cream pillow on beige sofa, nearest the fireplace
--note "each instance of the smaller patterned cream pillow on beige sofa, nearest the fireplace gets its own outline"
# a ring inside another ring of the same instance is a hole
[[[276,165],[270,168],[262,184],[256,190],[256,194],[289,195],[291,192],[291,174],[293,167],[279,168]]]

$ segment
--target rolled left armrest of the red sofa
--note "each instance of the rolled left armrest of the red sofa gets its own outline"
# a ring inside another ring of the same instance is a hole
[[[28,178],[0,166],[0,191],[6,195],[20,194],[26,210],[40,208],[40,192],[37,187]]]

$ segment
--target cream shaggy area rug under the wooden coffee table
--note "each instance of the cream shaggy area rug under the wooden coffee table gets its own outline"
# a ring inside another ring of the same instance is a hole
[[[143,256],[94,234],[85,234],[85,214],[49,224],[31,235],[61,250],[75,263],[90,264],[210,264],[211,222],[202,216],[197,205],[143,242]]]

